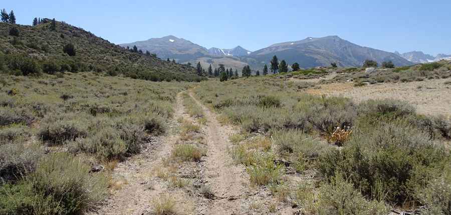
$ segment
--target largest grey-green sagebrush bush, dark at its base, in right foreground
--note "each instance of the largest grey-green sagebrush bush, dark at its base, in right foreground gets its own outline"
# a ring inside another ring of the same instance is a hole
[[[408,185],[416,177],[413,170],[439,168],[446,156],[408,122],[360,122],[343,149],[329,151],[319,163],[326,177],[341,172],[365,195],[400,204],[415,199]]]

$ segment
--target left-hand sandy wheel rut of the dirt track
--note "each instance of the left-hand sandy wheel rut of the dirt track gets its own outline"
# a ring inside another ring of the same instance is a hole
[[[177,127],[175,119],[183,115],[180,94],[176,98],[176,107],[170,128]],[[173,133],[173,132],[172,132]],[[158,196],[170,195],[180,209],[192,207],[193,202],[182,190],[168,189],[164,181],[153,177],[153,169],[161,166],[162,158],[170,156],[172,146],[178,134],[161,137],[149,143],[140,154],[119,163],[112,173],[112,186],[117,190],[98,210],[88,214],[149,214],[151,201]],[[188,210],[184,210],[188,211]]]

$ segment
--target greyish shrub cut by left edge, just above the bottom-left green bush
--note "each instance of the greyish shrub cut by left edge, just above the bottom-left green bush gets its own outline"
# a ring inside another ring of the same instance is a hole
[[[39,145],[0,145],[0,184],[22,179],[33,172],[44,150]]]

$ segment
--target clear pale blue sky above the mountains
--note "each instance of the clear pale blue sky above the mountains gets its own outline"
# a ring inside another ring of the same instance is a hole
[[[389,52],[451,54],[450,0],[2,1],[18,24],[56,18],[115,44],[174,35],[206,48],[251,51],[337,35]]]

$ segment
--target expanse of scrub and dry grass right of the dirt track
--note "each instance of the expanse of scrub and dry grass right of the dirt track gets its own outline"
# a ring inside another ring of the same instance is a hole
[[[443,144],[449,119],[419,115],[396,100],[356,104],[298,90],[252,78],[209,81],[194,92],[221,121],[241,127],[230,137],[230,153],[246,166],[251,184],[306,214],[387,214],[391,207],[418,206],[421,213],[450,214],[451,160]],[[315,177],[296,186],[286,172]]]

